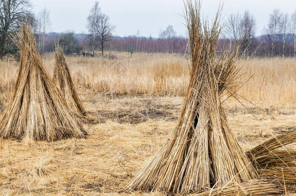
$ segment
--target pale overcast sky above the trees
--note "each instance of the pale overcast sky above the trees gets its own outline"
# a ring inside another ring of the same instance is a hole
[[[95,0],[31,0],[33,12],[37,14],[46,7],[50,11],[50,31],[76,33],[87,32],[86,18]],[[220,0],[203,0],[202,13],[213,18]],[[183,25],[183,0],[99,0],[101,11],[111,18],[115,35],[136,34],[158,36],[160,30],[172,25],[178,35],[185,35]],[[281,12],[296,11],[296,0],[225,0],[223,18],[231,13],[248,10],[257,22],[257,34],[261,34],[268,23],[268,15],[274,8]]]

